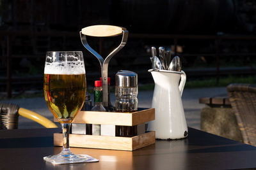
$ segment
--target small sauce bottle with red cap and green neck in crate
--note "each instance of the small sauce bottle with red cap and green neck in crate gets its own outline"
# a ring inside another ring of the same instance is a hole
[[[94,87],[94,106],[92,111],[106,111],[102,105],[102,81],[95,81]],[[92,135],[100,135],[100,125],[92,125]]]

